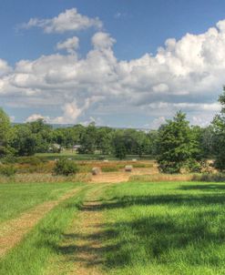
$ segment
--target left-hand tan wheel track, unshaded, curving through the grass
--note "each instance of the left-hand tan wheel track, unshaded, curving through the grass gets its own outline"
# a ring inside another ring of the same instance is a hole
[[[46,201],[23,213],[16,219],[11,219],[1,225],[0,229],[0,257],[3,257],[8,250],[11,250],[25,234],[42,219],[48,211],[55,208],[57,204],[65,199],[74,196],[80,188],[66,192],[60,199]]]

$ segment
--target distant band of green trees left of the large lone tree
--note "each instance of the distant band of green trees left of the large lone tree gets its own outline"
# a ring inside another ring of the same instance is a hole
[[[10,123],[9,117],[0,109],[0,157],[32,156],[49,151],[59,152],[62,148],[74,148],[80,154],[114,155],[154,155],[157,131],[145,133],[136,129],[115,129],[96,127],[57,127],[47,125],[43,119],[24,124]]]

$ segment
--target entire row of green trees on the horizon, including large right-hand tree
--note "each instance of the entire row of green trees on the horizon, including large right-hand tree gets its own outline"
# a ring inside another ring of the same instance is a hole
[[[182,168],[197,171],[201,161],[215,159],[215,167],[225,169],[225,88],[219,98],[220,114],[208,127],[190,126],[186,114],[179,111],[158,130],[149,132],[137,129],[96,127],[54,128],[43,119],[12,125],[3,109],[0,109],[0,158],[7,155],[32,156],[49,150],[78,145],[78,153],[114,155],[151,155],[157,158],[162,172],[178,173]],[[57,146],[56,146],[57,145]]]

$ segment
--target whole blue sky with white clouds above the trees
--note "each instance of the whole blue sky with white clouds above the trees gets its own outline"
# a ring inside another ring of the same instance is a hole
[[[222,0],[0,0],[0,107],[14,122],[207,126],[225,85]]]

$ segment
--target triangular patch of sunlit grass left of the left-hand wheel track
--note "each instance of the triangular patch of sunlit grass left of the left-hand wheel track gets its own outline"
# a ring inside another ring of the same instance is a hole
[[[0,222],[49,199],[58,199],[75,183],[0,184]]]

